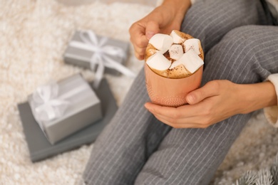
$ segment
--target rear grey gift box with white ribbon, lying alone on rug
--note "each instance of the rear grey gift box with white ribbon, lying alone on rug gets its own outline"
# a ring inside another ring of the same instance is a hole
[[[65,63],[91,68],[103,65],[103,73],[132,75],[124,65],[129,53],[129,43],[93,31],[76,31],[64,53]]]

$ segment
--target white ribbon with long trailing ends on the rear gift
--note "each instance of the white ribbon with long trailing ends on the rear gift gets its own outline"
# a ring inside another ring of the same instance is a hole
[[[86,33],[88,34],[88,37],[86,37]],[[127,75],[132,78],[135,77],[135,73],[118,63],[117,60],[109,57],[119,56],[123,58],[125,56],[125,52],[122,48],[109,45],[104,46],[105,43],[107,43],[108,38],[102,37],[98,41],[98,38],[93,31],[81,31],[80,37],[82,42],[71,41],[70,46],[87,51],[93,51],[93,55],[90,59],[91,69],[96,70],[96,65],[98,65],[93,83],[94,88],[98,88],[99,83],[101,83],[105,67],[118,70],[120,73],[123,73],[123,75]]]

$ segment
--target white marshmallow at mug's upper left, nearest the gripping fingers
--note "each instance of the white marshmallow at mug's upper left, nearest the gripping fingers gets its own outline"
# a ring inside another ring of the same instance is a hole
[[[152,38],[150,38],[149,43],[162,53],[165,53],[168,51],[170,46],[172,46],[173,38],[166,34],[157,33]]]

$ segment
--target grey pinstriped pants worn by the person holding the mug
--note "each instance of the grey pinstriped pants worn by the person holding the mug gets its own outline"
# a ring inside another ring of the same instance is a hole
[[[225,79],[259,83],[278,73],[278,27],[259,0],[197,1],[181,31],[200,38],[202,85]],[[252,116],[235,115],[207,129],[174,129],[145,110],[143,70],[94,144],[85,184],[209,184]]]

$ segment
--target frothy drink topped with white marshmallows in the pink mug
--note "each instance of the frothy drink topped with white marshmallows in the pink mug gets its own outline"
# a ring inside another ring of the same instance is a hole
[[[176,30],[170,36],[155,34],[145,51],[146,64],[166,78],[186,78],[204,64],[203,60],[200,40]]]

